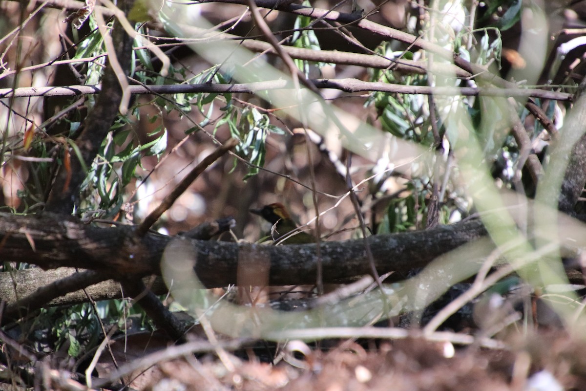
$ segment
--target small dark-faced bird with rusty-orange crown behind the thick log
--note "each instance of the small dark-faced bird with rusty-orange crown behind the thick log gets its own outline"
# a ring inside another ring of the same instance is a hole
[[[275,202],[260,209],[250,209],[251,213],[263,217],[272,224],[271,237],[273,242],[282,244],[315,243],[315,236],[299,231],[297,224],[282,203]],[[280,240],[285,237],[286,239]]]

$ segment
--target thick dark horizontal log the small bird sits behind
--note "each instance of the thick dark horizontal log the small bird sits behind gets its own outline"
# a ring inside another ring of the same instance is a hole
[[[472,221],[420,232],[372,236],[368,240],[380,274],[389,271],[406,274],[485,234],[482,224]],[[51,213],[40,216],[0,213],[0,257],[43,268],[67,266],[107,271],[117,279],[161,274],[159,262],[171,240],[171,237],[158,234],[138,239],[129,227],[91,227],[73,217]],[[207,287],[236,284],[239,261],[255,260],[270,261],[270,284],[315,282],[318,262],[315,244],[262,246],[179,240],[192,244],[196,258],[194,268]],[[362,240],[321,243],[321,257],[325,283],[352,280],[372,271]]]

